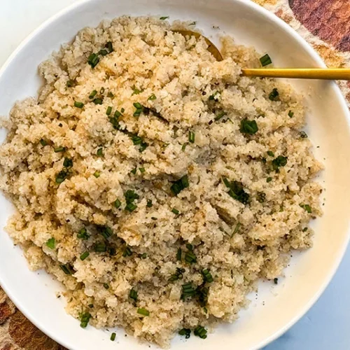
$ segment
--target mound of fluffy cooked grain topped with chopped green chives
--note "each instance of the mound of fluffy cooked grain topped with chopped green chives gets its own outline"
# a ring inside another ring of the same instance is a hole
[[[261,66],[253,48],[226,36],[217,62],[203,38],[172,31],[186,27],[83,29],[40,65],[38,99],[3,119],[0,148],[17,209],[6,231],[30,268],[64,284],[83,328],[163,347],[235,321],[321,215],[302,97],[240,76]]]

